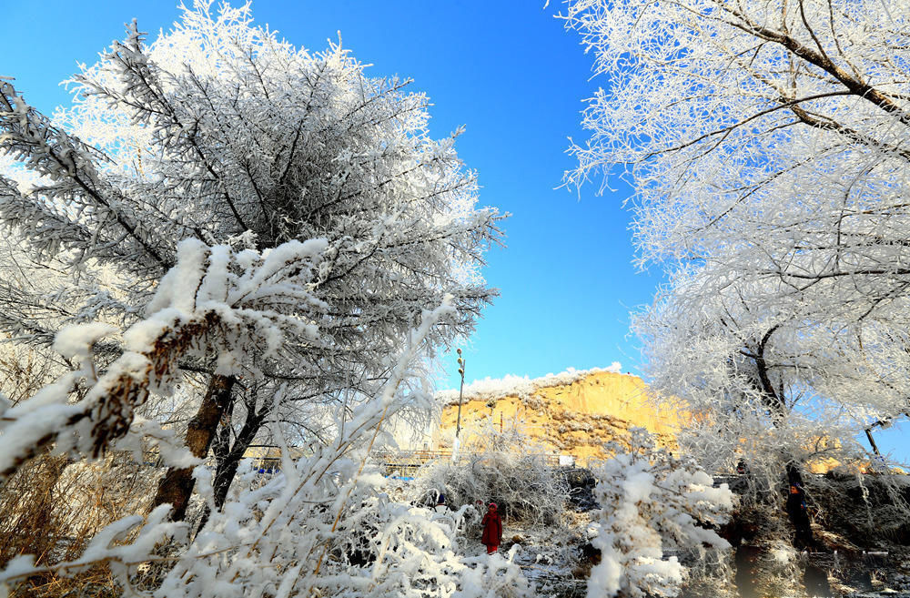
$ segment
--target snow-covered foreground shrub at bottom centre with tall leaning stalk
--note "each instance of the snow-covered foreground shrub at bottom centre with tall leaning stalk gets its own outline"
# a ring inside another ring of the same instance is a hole
[[[241,472],[225,508],[212,513],[154,595],[528,596],[514,552],[462,555],[456,528],[466,510],[438,513],[383,492],[388,481],[366,457],[370,435],[356,430],[373,430],[388,411],[380,401],[365,407],[352,434],[286,460],[265,486],[255,488],[255,471]]]

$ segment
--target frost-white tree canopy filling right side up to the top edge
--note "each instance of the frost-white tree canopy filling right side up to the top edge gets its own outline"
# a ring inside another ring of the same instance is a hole
[[[729,432],[705,452],[732,465],[747,439],[780,472],[905,412],[910,6],[574,0],[564,16],[606,79],[566,180],[632,183],[638,263],[670,272],[633,327],[654,387],[712,410],[708,438]]]

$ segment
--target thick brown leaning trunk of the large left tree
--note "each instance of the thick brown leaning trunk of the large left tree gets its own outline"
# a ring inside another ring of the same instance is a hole
[[[194,456],[205,459],[208,455],[208,449],[215,438],[218,424],[222,416],[230,405],[231,390],[237,381],[233,376],[222,376],[215,374],[212,380],[208,382],[206,396],[199,405],[199,410],[187,427],[186,444],[187,449]],[[174,507],[171,518],[174,521],[181,521],[187,515],[187,504],[189,497],[193,494],[193,486],[196,481],[193,479],[193,468],[174,468],[167,469],[165,476],[158,481],[158,490],[155,500],[149,510],[154,509],[159,504],[166,502]]]

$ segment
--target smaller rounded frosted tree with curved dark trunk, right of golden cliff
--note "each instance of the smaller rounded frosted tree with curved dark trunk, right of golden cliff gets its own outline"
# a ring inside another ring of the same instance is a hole
[[[790,462],[868,460],[857,432],[895,409],[885,378],[897,375],[895,361],[783,302],[749,302],[744,280],[705,296],[711,271],[677,272],[632,320],[655,383],[703,413],[682,432],[685,450],[713,471],[745,461],[760,487],[781,481]],[[867,323],[864,341],[884,331]]]

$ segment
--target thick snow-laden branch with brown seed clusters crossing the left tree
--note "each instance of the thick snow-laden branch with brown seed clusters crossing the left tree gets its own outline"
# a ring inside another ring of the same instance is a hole
[[[325,248],[321,240],[289,241],[264,254],[238,253],[184,241],[147,317],[123,333],[124,352],[106,372],[96,373],[92,346],[114,327],[92,323],[57,334],[55,349],[78,369],[3,413],[0,479],[51,443],[94,457],[108,450],[149,393],[167,392],[187,354],[214,352],[230,372],[248,367],[241,357],[248,352],[277,350],[288,330],[318,342],[314,322],[324,306],[307,288]],[[85,396],[74,402],[83,381]]]

